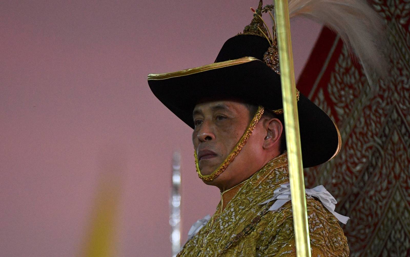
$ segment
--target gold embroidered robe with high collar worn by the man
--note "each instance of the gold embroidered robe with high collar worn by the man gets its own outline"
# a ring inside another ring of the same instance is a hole
[[[180,257],[296,256],[292,204],[268,211],[273,190],[289,182],[287,156],[282,154],[253,174],[222,210],[191,238]],[[347,257],[346,236],[335,216],[321,202],[307,197],[312,257]]]

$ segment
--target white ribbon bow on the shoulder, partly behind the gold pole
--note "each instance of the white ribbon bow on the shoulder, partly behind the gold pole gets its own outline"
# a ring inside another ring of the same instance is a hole
[[[343,224],[346,224],[347,221],[349,220],[349,217],[343,216],[337,212],[335,212],[335,207],[337,204],[337,201],[333,195],[331,195],[328,190],[322,185],[317,186],[312,189],[305,189],[306,195],[309,196],[314,196],[319,198],[319,201],[323,204],[326,209],[328,209],[335,217]],[[261,202],[260,204],[266,204],[268,202],[272,202],[276,200],[272,204],[272,206],[269,208],[269,211],[276,211],[280,207],[283,206],[283,204],[289,202],[292,199],[291,194],[290,194],[290,184],[285,183],[280,185],[278,188],[273,191],[273,197],[269,200],[266,200],[265,202]]]

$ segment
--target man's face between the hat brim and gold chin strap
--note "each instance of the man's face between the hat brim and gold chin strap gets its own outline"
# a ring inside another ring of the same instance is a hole
[[[248,108],[237,101],[199,103],[194,112],[192,142],[203,175],[211,174],[230,154],[250,122]]]

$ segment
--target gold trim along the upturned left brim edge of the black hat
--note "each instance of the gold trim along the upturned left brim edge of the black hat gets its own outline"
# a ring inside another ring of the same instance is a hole
[[[234,66],[238,64],[244,64],[244,63],[253,62],[253,61],[262,62],[261,60],[255,57],[242,57],[239,59],[228,60],[225,62],[214,62],[212,64],[208,64],[208,65],[204,65],[204,66],[200,66],[196,68],[191,68],[191,69],[185,69],[182,71],[175,71],[175,72],[162,73],[162,74],[149,74],[148,80],[164,80],[168,78],[177,78],[177,77],[192,75],[195,73],[200,73],[203,71],[210,71],[213,69],[220,69],[220,68],[225,68],[225,67]]]

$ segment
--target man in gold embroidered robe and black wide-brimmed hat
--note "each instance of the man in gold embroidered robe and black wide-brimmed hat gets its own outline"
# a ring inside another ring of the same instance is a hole
[[[266,40],[261,11],[260,2],[215,63],[148,75],[155,96],[194,129],[198,176],[221,190],[216,212],[194,224],[178,256],[296,256],[276,40]],[[295,97],[303,165],[325,163],[339,151],[339,131],[309,99]],[[306,193],[312,256],[348,256],[338,223],[347,217],[334,212],[323,187]]]

